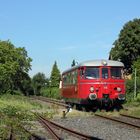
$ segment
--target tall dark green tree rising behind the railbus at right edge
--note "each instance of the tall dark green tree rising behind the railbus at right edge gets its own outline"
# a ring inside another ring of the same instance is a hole
[[[140,57],[140,19],[134,19],[124,25],[114,46],[109,59],[122,61],[128,73],[131,73],[133,62]]]

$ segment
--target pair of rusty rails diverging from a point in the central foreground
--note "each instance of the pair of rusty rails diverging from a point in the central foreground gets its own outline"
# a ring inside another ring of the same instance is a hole
[[[73,135],[74,137],[77,137],[80,140],[100,140],[99,138],[85,135],[83,133],[80,133],[80,132],[77,132],[75,130],[61,126],[61,125],[59,125],[55,122],[52,122],[52,121],[50,121],[50,120],[48,120],[48,119],[46,119],[38,114],[35,114],[35,116],[38,118],[38,121],[45,127],[45,129],[50,132],[51,136],[55,140],[62,140],[64,138],[62,138],[62,136],[60,137],[59,134],[57,134],[54,129],[65,131],[70,136]]]

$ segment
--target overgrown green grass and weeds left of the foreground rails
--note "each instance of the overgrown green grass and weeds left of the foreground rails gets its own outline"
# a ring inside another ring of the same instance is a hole
[[[53,117],[54,111],[41,103],[31,101],[20,95],[3,95],[0,97],[0,138],[9,139],[11,129],[15,133],[15,139],[29,139],[20,126],[34,127],[36,120],[32,112],[38,112],[48,117]]]

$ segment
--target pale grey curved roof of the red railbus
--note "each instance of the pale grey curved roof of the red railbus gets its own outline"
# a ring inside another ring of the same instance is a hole
[[[76,69],[81,66],[114,66],[114,67],[124,67],[124,64],[120,61],[113,61],[113,60],[89,60],[89,61],[84,61],[82,63],[79,63],[78,65],[71,67],[64,71],[63,73],[69,72],[73,69]],[[63,74],[62,73],[62,74]]]

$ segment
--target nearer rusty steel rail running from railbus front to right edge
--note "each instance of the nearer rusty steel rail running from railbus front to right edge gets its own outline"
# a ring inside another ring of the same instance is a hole
[[[130,122],[125,122],[125,121],[117,119],[117,118],[111,118],[111,117],[104,116],[104,115],[99,115],[99,114],[95,114],[95,116],[105,118],[105,119],[108,119],[108,120],[112,120],[112,121],[115,121],[115,122],[119,122],[119,123],[122,123],[122,124],[126,124],[126,125],[129,125],[129,126],[140,129],[140,125],[135,125],[135,124],[130,123]]]

